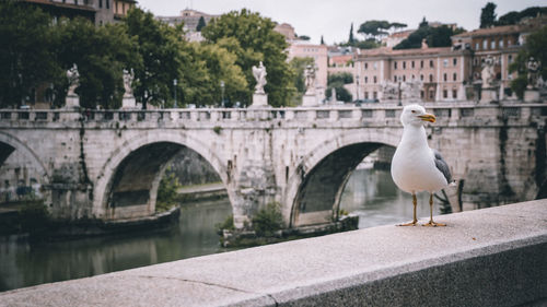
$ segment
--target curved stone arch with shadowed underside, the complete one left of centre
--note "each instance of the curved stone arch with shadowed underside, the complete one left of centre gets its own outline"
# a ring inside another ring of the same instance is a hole
[[[162,131],[140,133],[139,135],[127,140],[124,144],[113,151],[98,172],[95,180],[93,199],[93,214],[102,219],[124,219],[132,216],[150,215],[155,209],[155,197],[160,179],[168,161],[183,147],[195,151],[203,157],[217,172],[224,187],[226,188],[232,209],[234,208],[235,193],[230,187],[230,174],[226,165],[221,157],[213,152],[210,146],[203,142],[191,138],[184,131]],[[137,167],[140,166],[140,167]],[[129,174],[124,175],[124,172]],[[146,210],[141,205],[138,212],[116,212],[115,205],[109,205],[110,201],[124,204],[125,199],[121,186],[130,184],[129,176],[137,176],[139,180],[132,187],[136,193],[131,198],[137,200],[147,200]],[[138,188],[142,188],[138,190]],[[147,191],[144,191],[147,190]],[[121,194],[114,196],[114,193]],[[143,193],[147,193],[146,196]],[[115,199],[113,199],[113,197]]]

